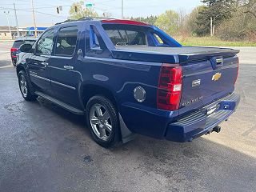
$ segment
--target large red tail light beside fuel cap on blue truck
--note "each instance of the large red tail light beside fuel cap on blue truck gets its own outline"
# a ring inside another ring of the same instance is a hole
[[[178,110],[181,95],[182,66],[163,64],[158,83],[158,109]]]

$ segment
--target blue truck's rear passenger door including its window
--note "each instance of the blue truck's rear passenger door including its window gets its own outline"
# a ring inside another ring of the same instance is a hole
[[[79,107],[78,82],[74,69],[77,62],[78,26],[63,26],[58,30],[54,55],[50,62],[51,86],[55,98]]]

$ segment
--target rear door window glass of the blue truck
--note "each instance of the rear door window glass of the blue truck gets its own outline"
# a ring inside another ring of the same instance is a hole
[[[78,38],[78,27],[69,26],[58,31],[55,55],[72,56]]]

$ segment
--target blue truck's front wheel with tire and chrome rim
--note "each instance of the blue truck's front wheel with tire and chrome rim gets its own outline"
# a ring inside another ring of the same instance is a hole
[[[18,72],[18,86],[22,93],[22,97],[26,101],[34,101],[38,98],[31,89],[31,83],[24,70]]]

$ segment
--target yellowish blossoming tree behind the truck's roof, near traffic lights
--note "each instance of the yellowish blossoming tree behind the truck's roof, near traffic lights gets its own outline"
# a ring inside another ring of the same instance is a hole
[[[72,20],[77,20],[81,18],[86,18],[86,17],[92,17],[92,18],[97,18],[98,14],[96,13],[95,10],[92,8],[84,8],[84,2],[74,2],[72,6],[70,7],[70,17],[69,19]],[[75,11],[75,7],[77,7],[77,12]]]

